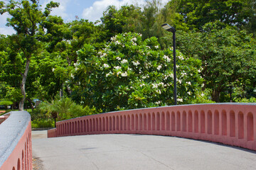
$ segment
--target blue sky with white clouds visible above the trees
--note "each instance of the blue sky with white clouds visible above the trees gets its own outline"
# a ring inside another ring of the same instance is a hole
[[[119,8],[119,6],[126,4],[136,4],[138,6],[145,4],[145,0],[41,0],[42,8],[50,1],[60,3],[60,6],[54,8],[51,14],[61,16],[65,22],[75,20],[75,16],[95,22],[100,20],[103,11],[110,5]],[[164,5],[167,1],[169,0],[161,0],[161,3]],[[7,14],[0,15],[0,34],[10,35],[14,33],[14,30],[5,26],[6,18],[8,18]]]

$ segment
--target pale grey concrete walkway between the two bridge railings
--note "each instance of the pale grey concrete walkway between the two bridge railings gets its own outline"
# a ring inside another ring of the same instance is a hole
[[[178,137],[85,135],[33,138],[32,145],[33,157],[42,161],[44,170],[256,167],[256,152]]]

